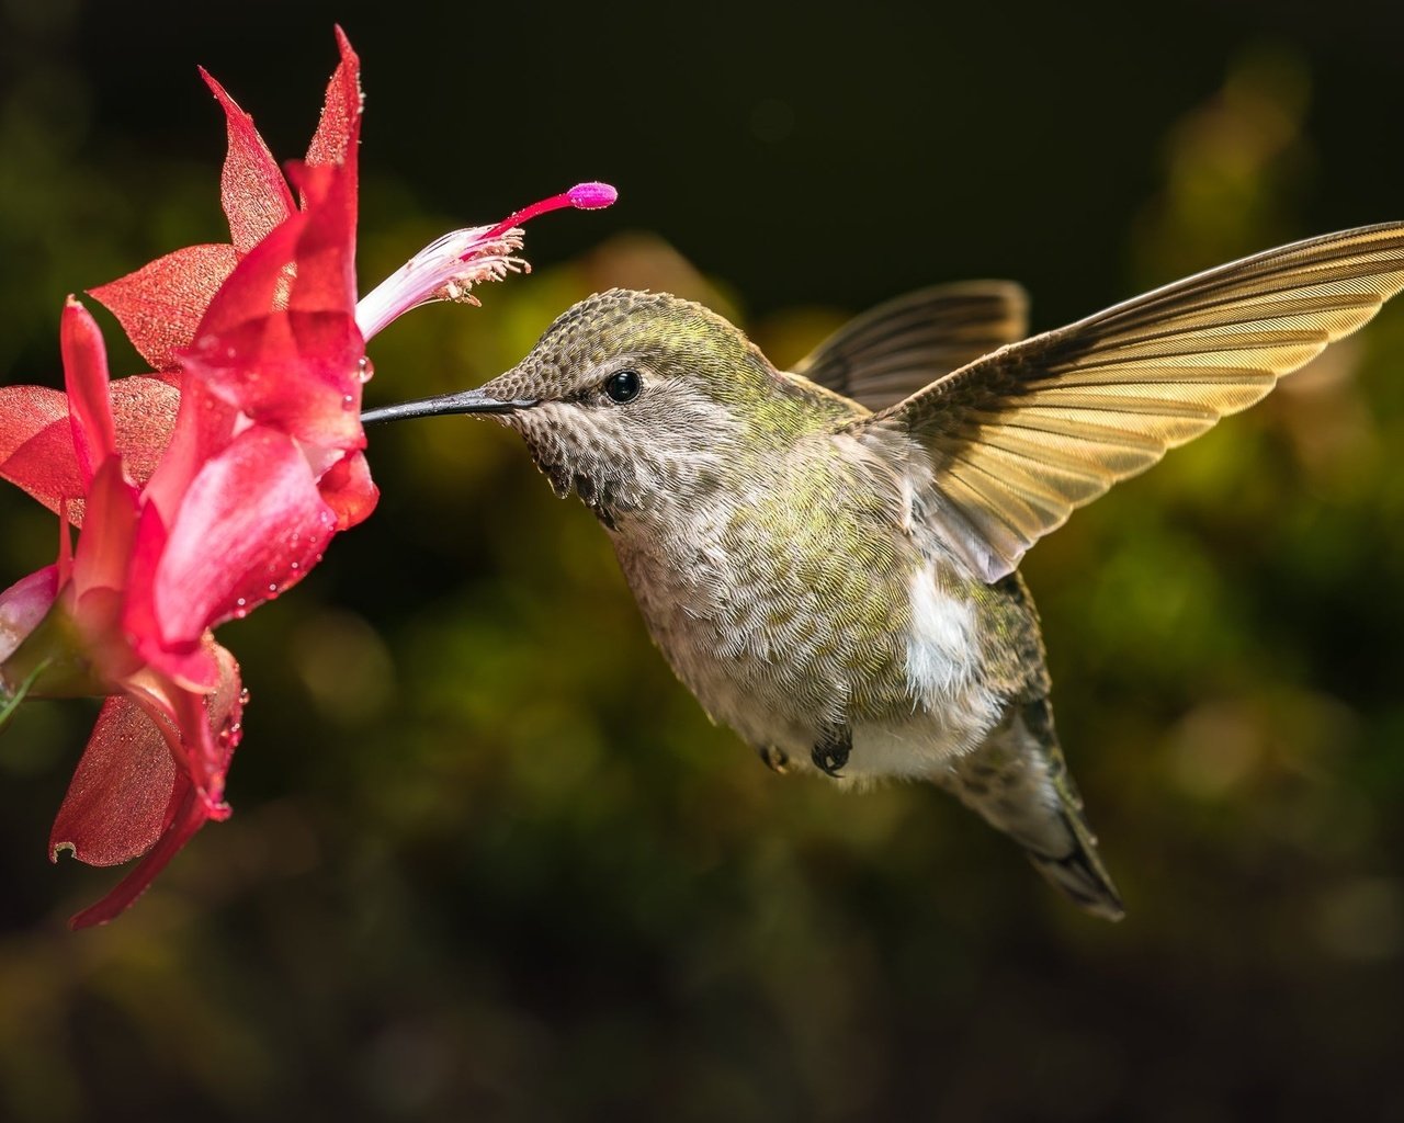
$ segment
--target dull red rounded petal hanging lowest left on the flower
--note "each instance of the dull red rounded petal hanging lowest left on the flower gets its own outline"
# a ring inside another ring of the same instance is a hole
[[[67,849],[90,866],[115,866],[156,845],[176,790],[176,761],[154,722],[129,698],[102,703],[53,821],[53,860]]]

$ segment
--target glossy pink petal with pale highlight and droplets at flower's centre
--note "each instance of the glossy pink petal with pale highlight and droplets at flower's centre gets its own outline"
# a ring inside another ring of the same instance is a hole
[[[191,480],[152,583],[152,618],[128,618],[139,650],[164,670],[168,653],[299,581],[334,528],[298,446],[246,430]],[[154,634],[140,623],[154,623]]]

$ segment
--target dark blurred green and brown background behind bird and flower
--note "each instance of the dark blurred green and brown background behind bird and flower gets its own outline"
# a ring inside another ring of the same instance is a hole
[[[1390,6],[143,6],[6,0],[0,373],[65,293],[225,236],[205,65],[298,156],[364,62],[362,291],[588,178],[529,278],[371,347],[473,385],[611,284],[781,362],[907,288],[1052,327],[1404,216]],[[139,369],[110,319],[117,373]],[[0,1119],[1404,1117],[1404,310],[1042,543],[1060,726],[1129,918],[934,790],[779,779],[650,649],[510,434],[376,434],[376,517],[220,630],[253,705],[118,922],[45,860],[93,709],[0,738]],[[0,498],[0,583],[53,518]]]

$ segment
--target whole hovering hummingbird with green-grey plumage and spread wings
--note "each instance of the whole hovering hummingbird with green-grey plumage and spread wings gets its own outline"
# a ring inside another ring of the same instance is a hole
[[[604,524],[663,654],[778,772],[932,780],[1074,901],[1122,901],[1063,762],[1016,567],[1404,288],[1404,223],[1221,265],[1025,335],[1024,292],[925,289],[783,372],[665,293],[569,309],[477,390]]]

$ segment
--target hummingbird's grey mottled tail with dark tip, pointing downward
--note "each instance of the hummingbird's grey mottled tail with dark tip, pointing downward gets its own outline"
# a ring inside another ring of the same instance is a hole
[[[1111,921],[1125,915],[1063,762],[1047,698],[1012,703],[984,744],[935,779],[1024,846],[1038,870],[1078,905]]]

